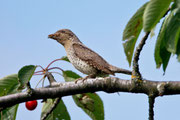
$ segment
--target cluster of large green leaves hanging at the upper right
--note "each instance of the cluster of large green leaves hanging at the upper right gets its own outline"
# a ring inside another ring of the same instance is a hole
[[[138,9],[129,20],[123,33],[123,40],[126,40],[123,46],[129,65],[141,29],[143,28],[145,32],[153,31],[161,19],[164,20],[154,53],[156,66],[159,68],[163,65],[165,71],[171,54],[176,54],[180,61],[180,0],[172,2],[172,0],[151,0]],[[169,8],[171,9],[168,14]]]

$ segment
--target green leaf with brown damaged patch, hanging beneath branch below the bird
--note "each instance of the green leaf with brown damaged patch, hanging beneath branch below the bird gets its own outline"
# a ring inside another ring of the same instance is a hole
[[[73,99],[93,120],[104,120],[103,102],[96,93],[73,95]]]

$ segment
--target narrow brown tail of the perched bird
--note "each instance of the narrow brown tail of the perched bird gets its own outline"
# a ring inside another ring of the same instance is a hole
[[[131,75],[131,74],[132,74],[132,72],[131,72],[130,70],[118,68],[118,67],[113,66],[113,65],[110,65],[110,70],[111,70],[113,73],[123,73],[123,74],[128,74],[128,75]]]

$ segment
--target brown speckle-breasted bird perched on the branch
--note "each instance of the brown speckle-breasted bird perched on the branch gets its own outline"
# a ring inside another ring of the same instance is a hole
[[[115,75],[123,73],[131,75],[132,72],[109,64],[98,53],[86,47],[79,38],[69,29],[61,29],[54,34],[48,35],[64,46],[67,58],[80,72],[90,78],[97,76]]]

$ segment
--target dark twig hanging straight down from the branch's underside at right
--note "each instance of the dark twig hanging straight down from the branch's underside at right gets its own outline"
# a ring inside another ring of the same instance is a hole
[[[149,120],[154,120],[154,102],[155,97],[149,96]]]

